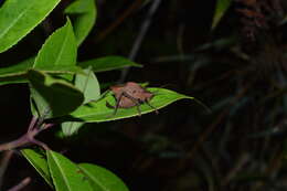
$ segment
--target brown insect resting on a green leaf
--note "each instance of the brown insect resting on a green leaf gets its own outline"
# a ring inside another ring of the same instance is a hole
[[[155,96],[151,92],[145,89],[135,82],[128,82],[121,85],[115,85],[110,87],[116,98],[116,106],[111,106],[108,102],[107,107],[114,108],[114,115],[116,115],[118,108],[130,108],[137,106],[139,116],[141,115],[139,106],[141,104],[149,105],[152,109],[158,110],[156,107],[150,105],[149,100]]]

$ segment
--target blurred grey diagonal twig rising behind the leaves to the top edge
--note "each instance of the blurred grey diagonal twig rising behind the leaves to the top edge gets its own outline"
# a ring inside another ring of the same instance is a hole
[[[150,23],[151,23],[151,20],[152,20],[152,17],[153,14],[157,12],[158,8],[159,8],[159,4],[160,4],[161,0],[153,0],[153,3],[151,4],[150,9],[149,9],[149,12],[147,13],[147,17],[146,17],[146,20],[144,21],[142,25],[140,26],[140,30],[139,30],[139,33],[137,35],[137,39],[132,45],[132,49],[129,53],[129,60],[134,61],[136,59],[136,55],[139,51],[139,47],[142,43],[142,40],[146,36],[148,30],[149,30],[149,26],[150,26]],[[121,75],[120,75],[120,78],[118,79],[119,83],[124,83],[127,74],[129,72],[129,67],[125,68],[121,71]]]

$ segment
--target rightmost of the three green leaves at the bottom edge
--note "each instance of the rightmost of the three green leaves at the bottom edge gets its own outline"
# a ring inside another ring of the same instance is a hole
[[[91,163],[79,163],[95,191],[128,191],[127,185],[113,172]]]

